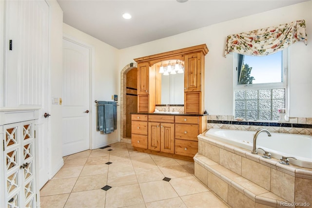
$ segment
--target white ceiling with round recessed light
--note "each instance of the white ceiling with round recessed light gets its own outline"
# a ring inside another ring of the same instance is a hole
[[[303,1],[58,0],[64,23],[117,49]],[[132,19],[122,18],[126,12]]]

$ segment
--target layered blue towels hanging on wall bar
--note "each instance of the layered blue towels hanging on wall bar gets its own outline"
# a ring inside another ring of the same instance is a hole
[[[97,130],[104,133],[117,130],[117,102],[98,101]]]

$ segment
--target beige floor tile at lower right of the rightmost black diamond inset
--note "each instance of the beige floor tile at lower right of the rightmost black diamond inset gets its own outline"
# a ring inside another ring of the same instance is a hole
[[[173,186],[179,196],[209,191],[209,189],[202,185],[202,183],[200,183],[194,176],[173,178],[169,183]]]

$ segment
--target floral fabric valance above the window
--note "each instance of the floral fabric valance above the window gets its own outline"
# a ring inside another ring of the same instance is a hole
[[[230,35],[227,38],[224,56],[231,52],[248,56],[266,56],[281,51],[297,41],[304,41],[307,45],[304,19]]]

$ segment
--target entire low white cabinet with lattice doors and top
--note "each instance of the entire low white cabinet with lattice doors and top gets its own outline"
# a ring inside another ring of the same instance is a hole
[[[37,207],[35,121],[38,110],[0,109],[0,207]]]

